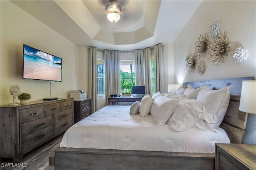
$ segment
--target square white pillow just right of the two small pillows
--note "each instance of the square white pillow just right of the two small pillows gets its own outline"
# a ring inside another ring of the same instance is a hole
[[[167,96],[158,96],[153,101],[150,114],[153,117],[156,126],[162,126],[168,121],[177,107],[180,100],[168,98]]]

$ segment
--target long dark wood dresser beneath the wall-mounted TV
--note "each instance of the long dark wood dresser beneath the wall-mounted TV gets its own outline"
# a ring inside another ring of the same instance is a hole
[[[74,124],[73,98],[1,106],[1,157],[22,161],[23,155]]]

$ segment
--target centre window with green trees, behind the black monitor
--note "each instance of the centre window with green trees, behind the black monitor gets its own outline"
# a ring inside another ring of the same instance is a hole
[[[135,86],[134,64],[120,64],[120,93],[131,93],[132,86]]]

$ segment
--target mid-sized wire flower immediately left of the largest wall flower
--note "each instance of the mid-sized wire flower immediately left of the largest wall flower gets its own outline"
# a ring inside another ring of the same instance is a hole
[[[196,49],[195,49],[195,55],[198,57],[198,59],[205,57],[209,47],[210,47],[210,41],[209,41],[208,35],[206,33],[205,35],[201,34],[200,37],[198,38],[198,41],[196,41]]]

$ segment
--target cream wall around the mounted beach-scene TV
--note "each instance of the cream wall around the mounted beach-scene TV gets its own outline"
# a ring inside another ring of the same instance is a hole
[[[18,84],[30,101],[50,97],[50,82],[22,79],[23,44],[62,58],[62,82],[51,82],[52,97],[68,97],[78,89],[78,47],[12,2],[1,3],[0,105],[12,103],[9,88]],[[18,99],[15,102],[19,102]]]

